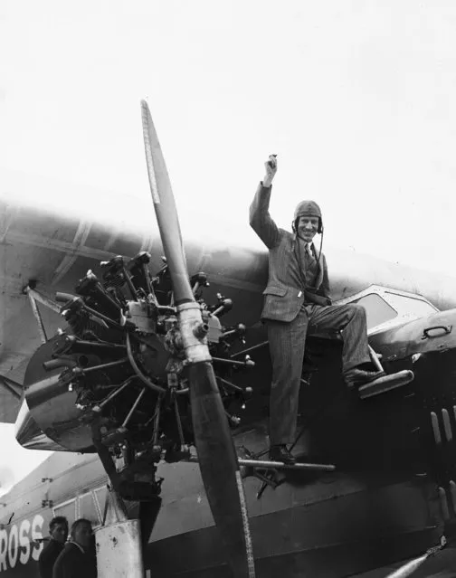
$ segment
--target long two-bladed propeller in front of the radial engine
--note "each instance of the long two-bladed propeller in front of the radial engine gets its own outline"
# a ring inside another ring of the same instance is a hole
[[[254,578],[249,520],[230,427],[202,332],[201,309],[188,280],[176,203],[147,102],[141,101],[147,171],[173,283],[179,327],[189,364],[190,399],[201,476],[215,524],[236,578]]]

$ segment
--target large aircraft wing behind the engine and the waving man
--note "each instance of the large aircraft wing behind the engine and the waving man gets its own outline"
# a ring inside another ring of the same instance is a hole
[[[143,200],[5,169],[0,183],[0,422],[14,422],[26,365],[42,343],[24,288],[33,281],[48,298],[56,291],[74,294],[87,270],[101,276],[100,261],[140,251],[151,254],[155,274],[163,266],[163,248],[146,183]],[[247,209],[227,238],[214,233],[217,222],[209,234],[198,203],[192,206],[196,213],[182,211],[181,222],[188,270],[208,275],[208,304],[215,303],[217,292],[233,299],[223,324],[260,326],[268,258],[248,225]],[[353,251],[325,252],[333,301],[377,283],[421,293],[441,309],[456,307],[454,278],[430,277]],[[58,312],[37,308],[48,337],[65,326]]]

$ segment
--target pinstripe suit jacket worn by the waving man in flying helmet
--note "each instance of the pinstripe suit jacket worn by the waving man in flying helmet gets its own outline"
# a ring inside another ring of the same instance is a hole
[[[260,184],[250,207],[252,229],[269,249],[269,279],[263,291],[261,319],[290,322],[304,303],[331,304],[328,267],[322,253],[315,287],[306,287],[304,242],[272,221],[270,199],[271,187]]]

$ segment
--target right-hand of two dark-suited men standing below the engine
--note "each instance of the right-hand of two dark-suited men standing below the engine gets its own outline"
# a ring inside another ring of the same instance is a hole
[[[97,559],[90,520],[80,518],[71,526],[71,542],[57,558],[52,578],[96,578]]]

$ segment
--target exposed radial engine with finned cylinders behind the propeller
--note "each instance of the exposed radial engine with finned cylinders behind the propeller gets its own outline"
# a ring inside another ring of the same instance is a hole
[[[100,279],[87,272],[77,296],[58,293],[68,327],[35,352],[24,377],[28,410],[45,436],[65,450],[97,451],[119,495],[139,501],[160,491],[158,461],[185,460],[194,443],[168,267],[163,258],[152,276],[149,262],[147,252],[130,261],[115,257],[101,262]],[[220,319],[232,300],[218,294],[217,303],[207,305],[204,272],[190,281],[226,416],[235,427],[235,413],[252,394],[233,383],[252,360],[230,357],[233,344],[244,343],[245,326],[223,327]]]

